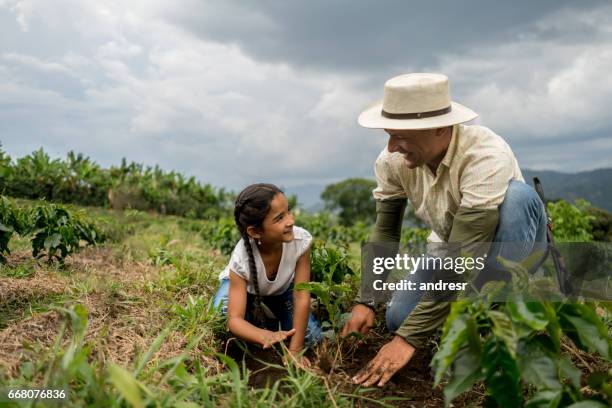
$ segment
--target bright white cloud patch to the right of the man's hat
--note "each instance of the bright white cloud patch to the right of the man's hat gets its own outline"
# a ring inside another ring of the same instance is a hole
[[[445,55],[439,69],[463,83],[481,123],[513,141],[609,131],[611,18],[609,5],[564,9],[507,43]]]

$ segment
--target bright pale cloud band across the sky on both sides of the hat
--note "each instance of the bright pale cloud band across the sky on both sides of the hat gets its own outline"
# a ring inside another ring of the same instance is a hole
[[[257,179],[292,185],[372,176],[384,135],[360,129],[356,117],[382,96],[386,78],[267,63],[174,23],[191,10],[207,24],[222,26],[226,15],[247,23],[231,5],[211,4],[0,0],[0,13],[10,10],[29,30],[23,41],[36,44],[53,30],[66,44],[55,55],[0,49],[0,107],[10,107],[0,113],[5,147],[77,149],[106,162],[127,156],[234,188]],[[519,151],[534,136],[554,143],[609,129],[609,15],[609,7],[560,11],[505,43],[444,55],[433,69],[448,73],[455,97]],[[276,29],[263,14],[248,18]],[[567,30],[590,37],[573,41]],[[559,31],[562,40],[551,34]],[[588,146],[585,155],[610,149],[606,141]],[[531,151],[520,159],[541,163]]]

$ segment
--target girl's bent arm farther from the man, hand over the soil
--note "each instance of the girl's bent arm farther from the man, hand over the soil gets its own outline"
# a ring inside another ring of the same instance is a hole
[[[227,305],[227,326],[229,330],[243,340],[261,344],[264,348],[292,336],[295,330],[277,331],[261,329],[244,319],[247,304],[247,283],[233,271],[230,271],[230,289]]]

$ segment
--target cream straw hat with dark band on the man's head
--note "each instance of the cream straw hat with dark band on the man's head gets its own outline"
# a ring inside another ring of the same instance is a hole
[[[358,122],[371,129],[434,129],[477,116],[451,101],[446,75],[415,73],[385,82],[383,100],[361,112]]]

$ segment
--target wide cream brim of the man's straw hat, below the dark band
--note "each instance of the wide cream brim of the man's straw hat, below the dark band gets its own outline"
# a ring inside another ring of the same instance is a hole
[[[389,119],[382,115],[382,101],[370,106],[359,115],[359,125],[369,129],[435,129],[468,122],[478,114],[457,102],[451,102],[451,111],[444,115],[422,119]]]

